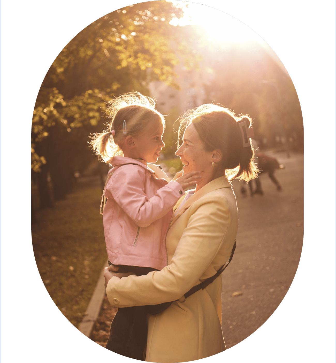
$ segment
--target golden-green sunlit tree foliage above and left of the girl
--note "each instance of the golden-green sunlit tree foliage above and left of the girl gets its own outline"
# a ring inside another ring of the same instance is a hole
[[[35,104],[34,171],[50,162],[49,155],[41,154],[46,148],[40,147],[39,153],[36,143],[50,132],[58,144],[64,143],[62,132],[54,126],[67,132],[84,128],[81,142],[86,144],[90,132],[104,126],[105,103],[114,96],[133,90],[148,95],[147,85],[153,80],[179,87],[174,66],[180,59],[187,67],[197,64],[197,57],[179,39],[179,27],[169,25],[173,17],[181,16],[181,9],[168,1],[130,5],[89,24],[62,49]],[[177,51],[171,47],[175,43],[179,44]]]

